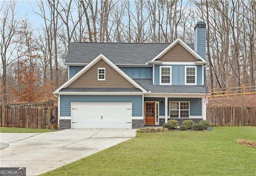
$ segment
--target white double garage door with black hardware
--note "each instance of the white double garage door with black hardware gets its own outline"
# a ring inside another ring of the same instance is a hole
[[[131,129],[132,103],[71,103],[72,129]]]

